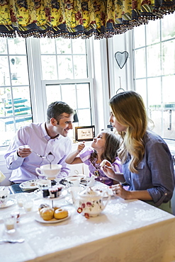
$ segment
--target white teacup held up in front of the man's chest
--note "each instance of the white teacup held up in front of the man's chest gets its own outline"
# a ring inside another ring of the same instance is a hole
[[[39,176],[46,176],[47,179],[54,180],[61,169],[62,165],[60,164],[47,164],[37,167],[35,171]]]

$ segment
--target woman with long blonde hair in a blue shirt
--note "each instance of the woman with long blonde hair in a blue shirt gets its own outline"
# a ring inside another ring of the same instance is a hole
[[[124,199],[145,200],[171,212],[169,200],[174,190],[174,166],[169,148],[159,135],[147,127],[147,113],[142,97],[134,91],[118,93],[110,100],[110,122],[122,138],[118,156],[123,175],[103,166],[106,176],[119,183],[113,193]],[[164,204],[166,203],[166,204]]]

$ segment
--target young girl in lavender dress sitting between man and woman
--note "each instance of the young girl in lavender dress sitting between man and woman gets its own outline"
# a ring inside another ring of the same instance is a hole
[[[79,144],[77,150],[69,154],[67,164],[84,163],[89,166],[89,176],[95,175],[96,181],[113,185],[113,179],[108,178],[101,169],[101,162],[106,159],[111,163],[113,171],[121,172],[120,160],[118,158],[119,139],[111,131],[101,131],[94,137],[91,147],[85,147],[84,142]],[[77,156],[79,154],[79,156]]]

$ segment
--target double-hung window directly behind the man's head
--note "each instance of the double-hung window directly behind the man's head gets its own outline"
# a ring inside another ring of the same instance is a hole
[[[45,107],[55,100],[64,101],[77,111],[79,125],[91,125],[92,81],[86,40],[40,39],[40,53]]]

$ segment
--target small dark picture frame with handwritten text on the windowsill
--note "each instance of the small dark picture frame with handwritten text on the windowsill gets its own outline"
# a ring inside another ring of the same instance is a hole
[[[75,127],[75,139],[79,142],[92,141],[95,137],[95,126]]]

